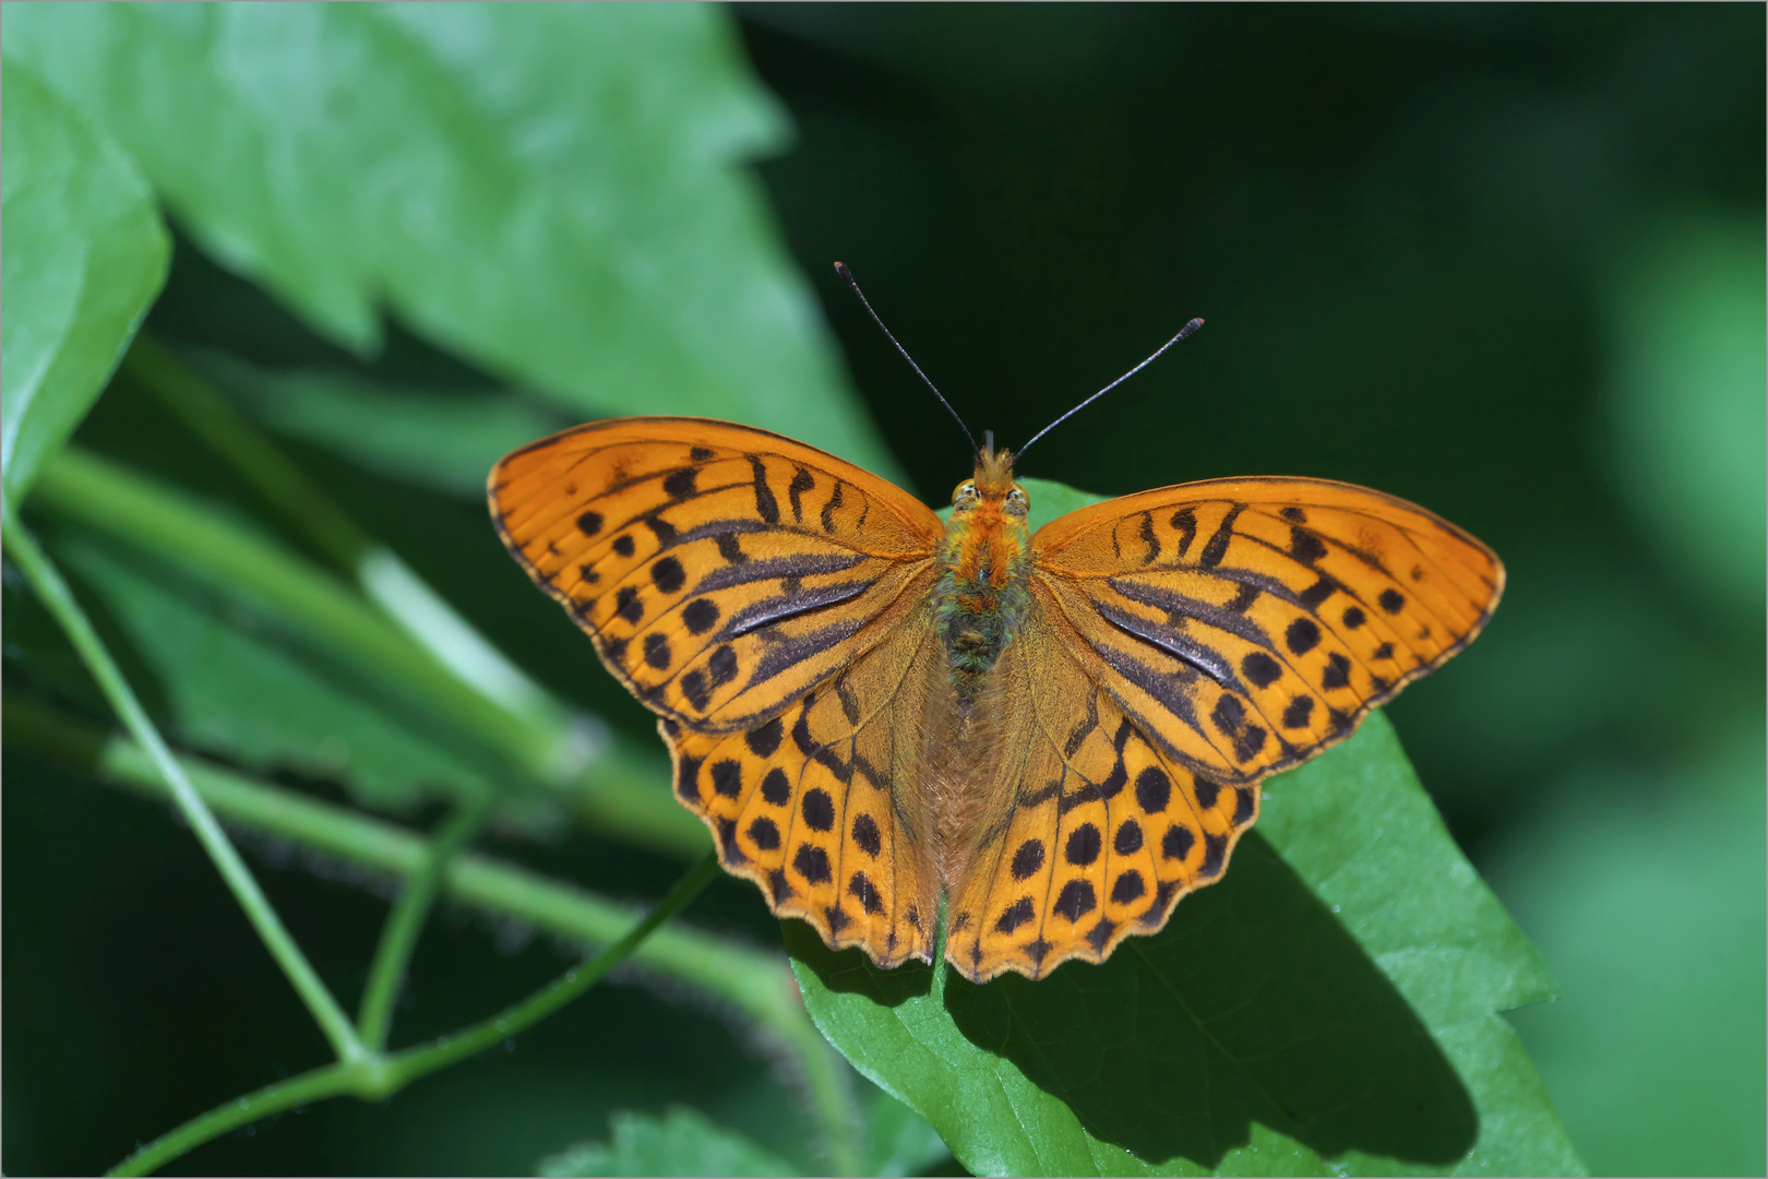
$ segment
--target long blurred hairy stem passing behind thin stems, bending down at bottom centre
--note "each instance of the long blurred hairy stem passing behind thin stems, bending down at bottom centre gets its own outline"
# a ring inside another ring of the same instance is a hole
[[[104,781],[157,801],[166,797],[164,781],[141,748],[127,739],[106,737],[21,696],[7,696],[0,718],[5,723],[4,742],[12,749],[32,749],[71,762]],[[293,840],[407,879],[430,863],[426,841],[403,827],[242,778],[196,757],[184,755],[179,760],[196,792],[223,822]],[[638,917],[626,905],[474,854],[460,854],[447,864],[442,887],[456,903],[598,946],[612,942]],[[859,1114],[847,1068],[810,1022],[778,955],[674,924],[645,940],[633,962],[714,995],[753,1020],[803,1078],[812,1119],[827,1144],[831,1167],[840,1174],[857,1172]]]

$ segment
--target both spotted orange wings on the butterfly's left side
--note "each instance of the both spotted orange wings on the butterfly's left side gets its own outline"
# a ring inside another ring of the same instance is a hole
[[[492,470],[490,500],[509,551],[661,716],[675,794],[725,868],[834,947],[930,960],[939,518],[831,454],[690,417],[543,438]]]

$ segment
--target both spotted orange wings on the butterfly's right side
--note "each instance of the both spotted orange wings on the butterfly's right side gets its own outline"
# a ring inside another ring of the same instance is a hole
[[[1160,930],[1220,879],[1259,780],[1473,642],[1505,582],[1425,509],[1317,479],[1109,500],[1033,551],[948,905],[946,956],[978,981]]]

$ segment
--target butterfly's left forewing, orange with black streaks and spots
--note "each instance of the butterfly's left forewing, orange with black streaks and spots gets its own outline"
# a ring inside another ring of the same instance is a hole
[[[766,430],[591,422],[507,454],[492,518],[606,668],[691,732],[778,716],[882,638],[941,523],[909,493]]]

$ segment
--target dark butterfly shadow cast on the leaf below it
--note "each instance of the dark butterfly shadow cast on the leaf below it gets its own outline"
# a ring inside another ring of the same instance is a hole
[[[946,985],[971,1043],[1147,1163],[1215,1168],[1262,1122],[1326,1158],[1452,1163],[1473,1101],[1406,999],[1252,833],[1234,871],[1103,965]]]

